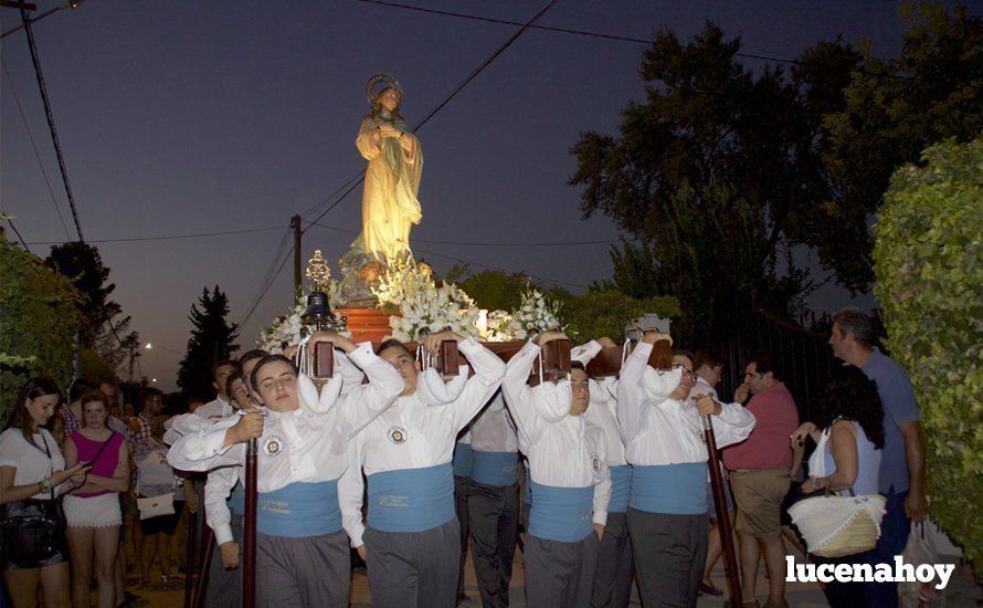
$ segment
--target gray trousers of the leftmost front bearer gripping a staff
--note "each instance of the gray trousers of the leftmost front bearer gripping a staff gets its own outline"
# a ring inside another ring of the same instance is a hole
[[[256,533],[256,606],[348,606],[351,558],[343,530],[287,538]]]

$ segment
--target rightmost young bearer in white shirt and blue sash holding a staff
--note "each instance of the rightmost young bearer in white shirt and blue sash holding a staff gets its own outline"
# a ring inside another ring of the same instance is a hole
[[[621,369],[617,418],[632,464],[627,522],[645,606],[696,606],[707,558],[707,447],[700,418],[710,416],[719,447],[743,441],[754,417],[737,403],[704,395],[688,356],[672,370],[648,365],[666,334],[646,333]]]

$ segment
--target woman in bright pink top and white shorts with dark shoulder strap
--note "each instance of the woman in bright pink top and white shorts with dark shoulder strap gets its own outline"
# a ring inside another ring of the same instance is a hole
[[[68,465],[88,462],[85,485],[64,499],[72,557],[72,597],[76,608],[89,606],[88,585],[95,562],[99,608],[124,601],[116,598],[114,575],[119,552],[119,493],[129,488],[129,448],[125,438],[106,427],[106,397],[89,392],[82,397],[82,428],[65,439]],[[93,557],[95,554],[95,557]]]

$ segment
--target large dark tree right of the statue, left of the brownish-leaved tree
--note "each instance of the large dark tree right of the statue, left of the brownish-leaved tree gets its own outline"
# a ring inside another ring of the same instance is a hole
[[[824,199],[815,147],[828,105],[827,72],[749,72],[739,39],[707,23],[690,42],[657,33],[642,57],[644,103],[622,111],[619,137],[583,134],[572,153],[581,211],[601,212],[634,239],[613,248],[613,284],[635,297],[675,295],[683,325],[702,340],[752,302],[792,314],[811,287],[792,259],[803,210]],[[855,52],[829,43],[842,82]],[[821,82],[807,87],[810,78]]]

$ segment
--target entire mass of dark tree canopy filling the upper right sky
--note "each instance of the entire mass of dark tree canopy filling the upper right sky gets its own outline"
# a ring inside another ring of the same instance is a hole
[[[686,42],[657,32],[644,99],[625,105],[616,136],[584,133],[571,148],[582,213],[627,237],[605,286],[678,296],[697,340],[753,306],[794,317],[815,286],[807,251],[867,289],[869,218],[890,172],[983,124],[980,20],[931,4],[905,14],[897,59],[836,39],[788,72],[751,71],[740,39],[710,22]]]

